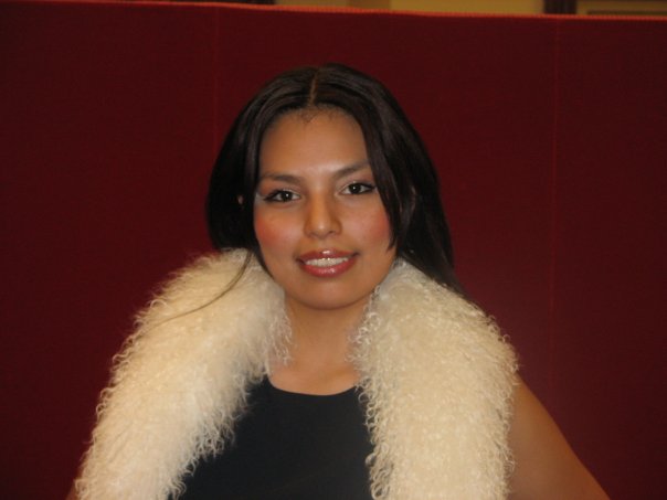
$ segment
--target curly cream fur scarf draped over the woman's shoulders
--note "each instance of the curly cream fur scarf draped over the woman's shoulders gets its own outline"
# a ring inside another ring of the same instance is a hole
[[[204,257],[139,317],[102,394],[82,500],[165,500],[233,433],[252,384],[285,348],[282,289],[245,253]],[[288,330],[288,329],[287,329]],[[479,309],[403,262],[354,338],[375,499],[500,499],[516,360]],[[222,436],[222,439],[221,439]]]

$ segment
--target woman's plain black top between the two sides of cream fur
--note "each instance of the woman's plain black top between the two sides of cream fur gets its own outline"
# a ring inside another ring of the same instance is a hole
[[[224,451],[186,478],[180,500],[370,500],[372,451],[354,387],[328,396],[253,389]]]

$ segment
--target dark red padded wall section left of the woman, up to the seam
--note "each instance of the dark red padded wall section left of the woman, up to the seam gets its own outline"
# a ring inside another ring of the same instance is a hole
[[[207,247],[213,29],[201,9],[0,6],[2,498],[63,498],[133,311]]]

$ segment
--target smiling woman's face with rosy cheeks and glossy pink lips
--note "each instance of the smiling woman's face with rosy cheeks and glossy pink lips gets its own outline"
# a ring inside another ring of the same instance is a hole
[[[278,118],[260,151],[254,224],[292,311],[361,311],[395,248],[357,121],[337,110]]]

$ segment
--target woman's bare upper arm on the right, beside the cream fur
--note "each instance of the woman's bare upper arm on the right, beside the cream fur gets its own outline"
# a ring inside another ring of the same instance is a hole
[[[512,500],[608,500],[523,382],[515,395],[509,444],[516,462],[510,480]]]

